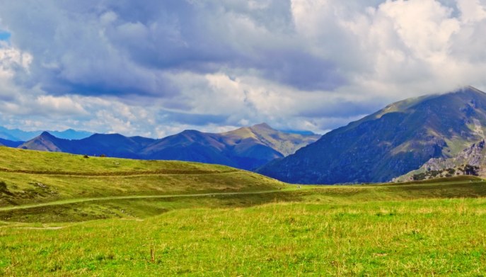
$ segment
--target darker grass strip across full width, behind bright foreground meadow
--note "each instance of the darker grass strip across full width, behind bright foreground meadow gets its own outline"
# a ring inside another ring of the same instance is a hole
[[[457,180],[456,180],[457,181]],[[486,197],[486,183],[417,183],[378,186],[323,186],[301,191],[245,195],[95,200],[0,212],[6,222],[83,222],[108,218],[146,218],[184,208],[248,208],[268,203],[352,204],[427,198]]]

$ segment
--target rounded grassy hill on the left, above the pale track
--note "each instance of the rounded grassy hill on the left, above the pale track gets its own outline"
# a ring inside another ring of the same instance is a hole
[[[0,207],[71,198],[264,191],[284,186],[214,164],[84,158],[0,147]]]

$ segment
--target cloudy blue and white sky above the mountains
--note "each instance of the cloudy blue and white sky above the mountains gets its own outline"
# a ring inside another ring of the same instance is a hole
[[[486,90],[486,0],[0,0],[0,125],[324,133]]]

